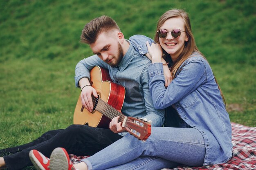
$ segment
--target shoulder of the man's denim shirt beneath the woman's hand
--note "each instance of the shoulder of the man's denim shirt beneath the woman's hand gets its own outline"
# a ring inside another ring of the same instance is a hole
[[[145,35],[133,35],[129,38],[132,46],[138,51],[141,55],[148,53],[148,48],[146,42],[151,45],[154,40],[151,38],[146,37]]]

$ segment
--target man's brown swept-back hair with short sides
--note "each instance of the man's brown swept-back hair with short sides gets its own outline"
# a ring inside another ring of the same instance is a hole
[[[120,31],[119,26],[112,18],[106,15],[94,18],[85,24],[80,36],[81,42],[92,44],[97,40],[97,37],[100,33],[108,32],[111,29],[117,29]]]

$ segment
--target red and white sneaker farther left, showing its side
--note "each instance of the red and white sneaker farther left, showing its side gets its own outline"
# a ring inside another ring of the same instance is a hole
[[[30,150],[29,158],[37,170],[50,170],[50,159],[37,150]]]

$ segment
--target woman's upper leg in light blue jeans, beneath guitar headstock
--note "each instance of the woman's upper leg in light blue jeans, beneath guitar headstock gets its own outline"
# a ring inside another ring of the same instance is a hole
[[[87,164],[89,170],[101,170],[122,164],[126,167],[126,163],[141,156],[160,157],[189,166],[202,166],[205,156],[204,139],[194,128],[153,127],[145,142],[126,135],[82,161]],[[127,166],[129,168],[130,164]]]

